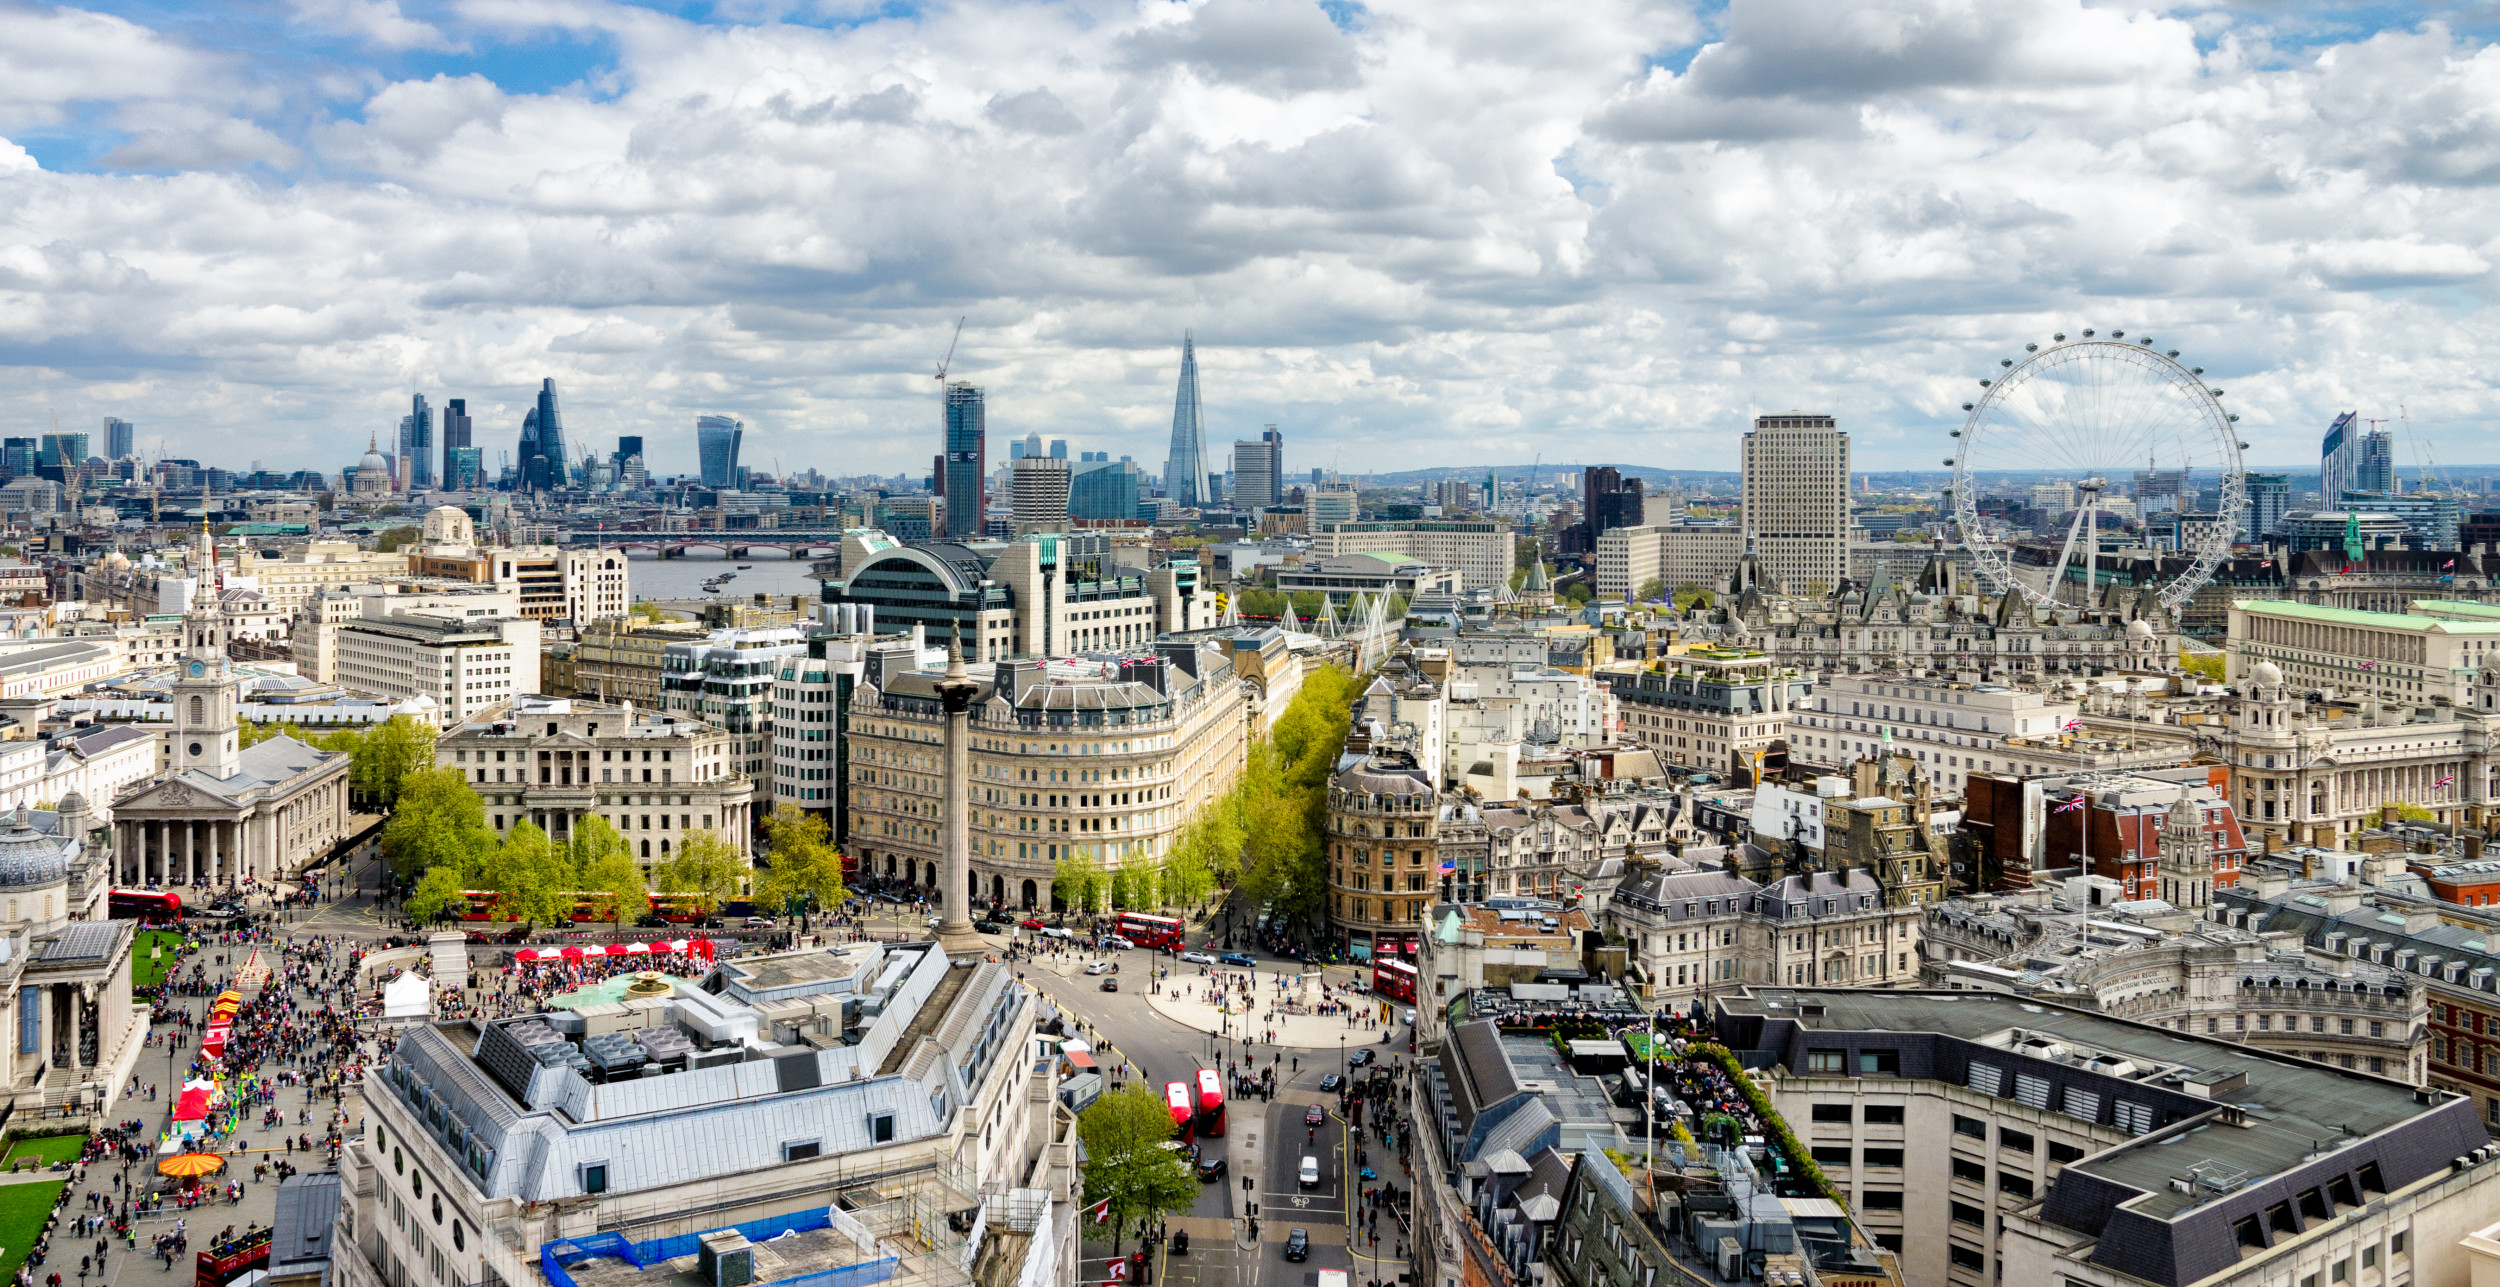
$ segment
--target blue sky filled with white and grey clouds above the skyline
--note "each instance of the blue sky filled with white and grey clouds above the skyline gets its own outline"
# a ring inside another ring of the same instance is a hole
[[[2488,7],[2075,0],[0,0],[0,407],[338,470],[410,392],[488,465],[1735,467],[1758,410],[1932,467],[2052,330],[2158,335],[2260,462],[2398,415],[2500,462]],[[2482,357],[2478,357],[2482,355]],[[102,445],[98,442],[98,450]],[[992,455],[1002,450],[992,447]],[[2410,460],[2405,460],[2410,462]]]

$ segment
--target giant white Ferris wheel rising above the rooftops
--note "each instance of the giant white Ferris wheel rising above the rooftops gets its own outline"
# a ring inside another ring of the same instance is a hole
[[[1980,395],[1962,402],[1968,417],[1952,432],[1952,525],[1970,550],[1975,572],[1995,592],[2018,590],[2035,607],[2082,607],[2098,580],[2100,532],[2122,517],[2118,490],[2172,557],[2162,560],[2158,597],[2172,615],[2202,590],[2230,557],[2248,507],[2240,465],[2238,415],[2222,410],[2222,390],[2205,382],[2205,367],[2180,362],[2178,350],[2158,350],[2150,337],[2122,330],[2078,337],[2055,335],[1998,360],[1980,380]],[[2055,562],[2018,555],[2038,535],[2018,530],[2002,497],[2032,482],[2072,487],[2072,515],[2058,540]],[[2195,507],[2205,487],[2215,497]],[[2170,517],[2175,515],[2175,517]],[[2030,562],[2030,575],[2020,567]],[[2072,582],[2080,577],[2080,582]]]

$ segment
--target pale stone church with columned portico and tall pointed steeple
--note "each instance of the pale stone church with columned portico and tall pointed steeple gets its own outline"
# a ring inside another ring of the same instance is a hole
[[[242,747],[225,622],[182,620],[165,772],[112,802],[115,875],[135,887],[270,885],[348,837],[345,752],[278,735]]]

